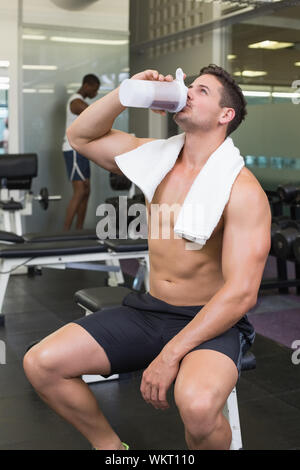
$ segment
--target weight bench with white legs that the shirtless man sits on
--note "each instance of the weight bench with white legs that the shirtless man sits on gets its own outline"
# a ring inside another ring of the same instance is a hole
[[[123,298],[130,292],[132,292],[131,289],[124,287],[97,287],[77,291],[74,299],[85,310],[85,314],[90,315],[98,310],[121,305]],[[242,359],[242,372],[255,369],[255,367],[255,356],[251,352],[246,353]],[[104,378],[101,375],[84,375],[82,378],[86,383],[91,383],[118,379],[119,375],[114,374],[108,378]],[[227,417],[232,431],[230,450],[240,450],[242,449],[242,436],[236,387],[234,387],[229,395],[223,413]]]

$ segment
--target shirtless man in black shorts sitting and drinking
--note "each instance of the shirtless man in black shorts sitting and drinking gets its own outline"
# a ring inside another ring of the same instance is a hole
[[[132,78],[173,80],[156,70]],[[183,203],[210,155],[240,124],[244,107],[241,90],[223,69],[202,69],[189,87],[186,107],[175,116],[185,144],[153,203]],[[116,89],[87,108],[68,131],[76,151],[116,173],[115,156],[152,140],[112,130],[123,110]],[[242,353],[254,339],[245,314],[257,301],[270,225],[267,197],[244,167],[201,250],[186,250],[186,241],[174,236],[149,238],[150,292],[129,294],[109,315],[97,312],[45,338],[24,358],[28,379],[94,448],[121,450],[120,437],[80,376],[145,369],[141,393],[157,409],[169,406],[167,392],[174,382],[189,449],[229,449],[231,429],[222,409],[238,380]]]

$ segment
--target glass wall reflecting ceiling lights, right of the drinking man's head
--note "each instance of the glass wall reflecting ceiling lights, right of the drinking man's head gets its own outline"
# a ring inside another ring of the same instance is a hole
[[[227,70],[248,102],[232,134],[265,189],[300,183],[300,7],[280,9],[226,30]]]

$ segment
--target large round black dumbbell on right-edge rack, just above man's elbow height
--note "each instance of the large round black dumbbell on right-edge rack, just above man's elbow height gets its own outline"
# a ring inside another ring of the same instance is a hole
[[[300,221],[290,220],[285,228],[277,230],[273,236],[274,255],[281,259],[294,259],[293,244],[300,235]]]

